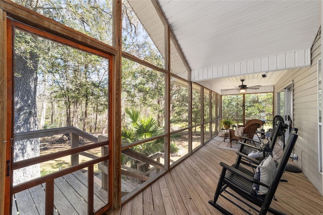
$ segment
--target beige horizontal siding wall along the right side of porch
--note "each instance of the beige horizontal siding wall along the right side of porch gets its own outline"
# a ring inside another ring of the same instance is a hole
[[[321,56],[320,37],[312,47],[311,67],[289,70],[286,77],[274,87],[274,113],[277,115],[277,93],[293,83],[293,122],[298,128],[295,151],[299,157],[294,161],[303,173],[322,191],[322,175],[318,171],[318,118],[317,118],[317,60]]]

